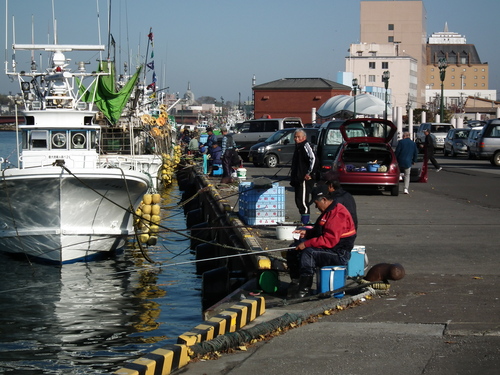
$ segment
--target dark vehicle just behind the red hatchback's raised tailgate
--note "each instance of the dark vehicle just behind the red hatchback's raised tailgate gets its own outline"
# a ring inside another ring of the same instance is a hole
[[[335,156],[343,142],[340,126],[344,121],[345,120],[328,121],[319,128],[317,156],[318,171],[320,175],[324,172],[328,172],[333,167]],[[362,137],[366,135],[363,126],[355,127],[353,125],[347,131],[350,136]]]

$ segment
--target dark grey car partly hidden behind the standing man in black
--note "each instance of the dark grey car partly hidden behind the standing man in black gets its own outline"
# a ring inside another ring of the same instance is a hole
[[[256,167],[265,165],[268,168],[274,168],[278,164],[291,165],[295,151],[295,139],[293,135],[297,129],[300,128],[278,130],[264,142],[250,147],[248,160]],[[307,140],[314,149],[318,142],[318,129],[304,128],[302,130],[306,132]]]

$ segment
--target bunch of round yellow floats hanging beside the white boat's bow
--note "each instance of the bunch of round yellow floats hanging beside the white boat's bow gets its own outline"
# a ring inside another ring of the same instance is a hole
[[[160,194],[144,194],[142,202],[135,211],[135,226],[141,243],[154,246],[158,241],[160,229]]]

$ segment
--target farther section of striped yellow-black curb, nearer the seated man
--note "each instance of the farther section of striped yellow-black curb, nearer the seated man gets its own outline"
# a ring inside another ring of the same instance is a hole
[[[266,303],[264,297],[252,297],[241,300],[220,314],[196,326],[190,332],[179,336],[177,344],[191,346],[203,341],[212,340],[219,335],[244,327],[258,316],[264,314]]]

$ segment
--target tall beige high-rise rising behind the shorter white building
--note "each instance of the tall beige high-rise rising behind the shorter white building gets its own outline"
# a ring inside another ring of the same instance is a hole
[[[414,107],[425,104],[426,17],[422,1],[361,1],[360,42],[394,44],[397,55],[416,60]]]

